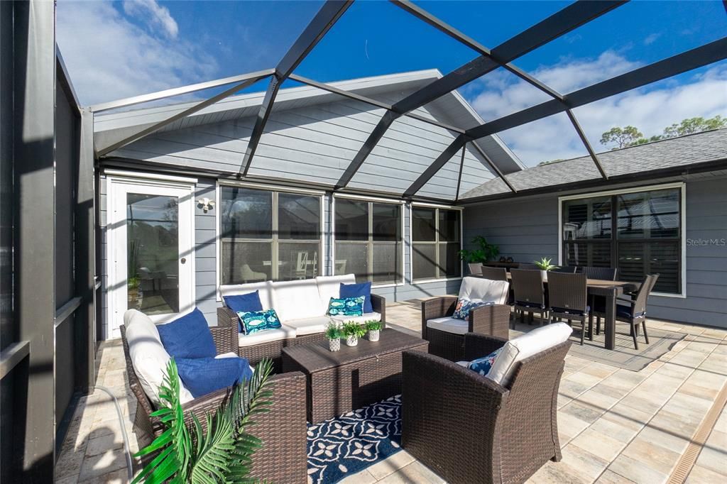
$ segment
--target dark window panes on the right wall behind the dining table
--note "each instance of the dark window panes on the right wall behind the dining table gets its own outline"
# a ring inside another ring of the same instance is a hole
[[[659,273],[654,291],[682,292],[680,187],[561,198],[562,261],[616,267],[620,281]]]

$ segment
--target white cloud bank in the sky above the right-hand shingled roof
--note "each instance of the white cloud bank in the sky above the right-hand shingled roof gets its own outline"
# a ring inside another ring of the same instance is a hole
[[[614,52],[604,52],[595,60],[563,60],[533,74],[559,92],[568,93],[583,86],[617,76],[638,67]],[[469,96],[475,110],[485,119],[499,118],[547,101],[533,86],[509,73],[485,76],[483,91]],[[727,65],[716,65],[688,81],[662,81],[574,109],[593,148],[601,145],[601,133],[613,126],[630,124],[646,137],[662,134],[664,127],[694,116],[727,115]],[[499,133],[516,155],[528,166],[541,161],[585,156],[586,151],[565,113]]]

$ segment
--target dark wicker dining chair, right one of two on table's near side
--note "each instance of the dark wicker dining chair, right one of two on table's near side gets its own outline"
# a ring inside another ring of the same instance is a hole
[[[589,323],[588,339],[593,341],[593,319],[590,318],[588,307],[588,285],[586,275],[554,273],[547,276],[548,311],[550,322],[556,318],[567,319],[572,325],[573,321],[581,323],[581,344],[586,332],[586,323]]]

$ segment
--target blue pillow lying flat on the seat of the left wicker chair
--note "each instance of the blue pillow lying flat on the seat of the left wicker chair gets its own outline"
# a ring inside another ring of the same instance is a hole
[[[178,358],[174,361],[182,383],[194,398],[252,378],[246,358]]]

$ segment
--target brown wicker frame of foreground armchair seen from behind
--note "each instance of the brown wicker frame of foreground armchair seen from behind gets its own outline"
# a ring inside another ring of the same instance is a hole
[[[465,335],[466,359],[504,339]],[[523,483],[561,460],[558,386],[570,342],[519,363],[509,387],[434,355],[403,353],[401,445],[448,483]]]

